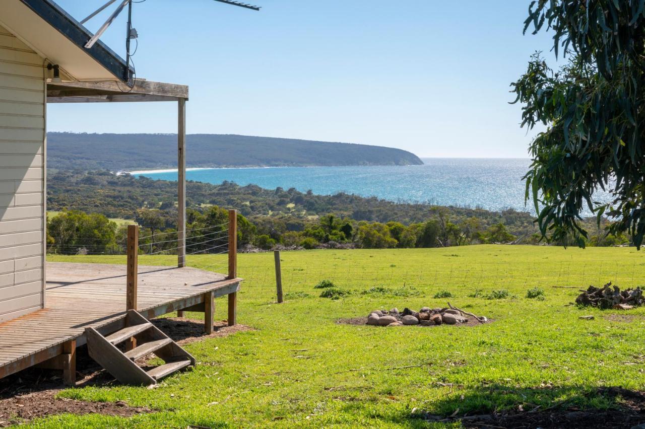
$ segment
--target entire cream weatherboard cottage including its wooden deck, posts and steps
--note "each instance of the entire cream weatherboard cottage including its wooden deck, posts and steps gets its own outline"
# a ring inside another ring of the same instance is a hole
[[[128,63],[97,41],[100,33],[52,0],[0,0],[0,378],[41,365],[63,370],[74,385],[75,350],[87,345],[122,383],[150,385],[195,359],[149,319],[203,312],[210,334],[215,298],[227,296],[228,325],[236,323],[235,210],[219,252],[228,253],[228,274],[186,267],[188,86],[134,79]],[[177,102],[177,267],[138,265],[135,225],[127,264],[46,263],[47,104],[142,101]],[[126,351],[116,347],[122,343]],[[165,363],[139,366],[150,353]]]

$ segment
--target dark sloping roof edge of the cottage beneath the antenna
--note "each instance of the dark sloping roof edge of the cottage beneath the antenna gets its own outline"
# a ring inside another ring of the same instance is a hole
[[[132,84],[134,70],[126,66],[124,59],[119,57],[117,53],[101,41],[95,43],[92,48],[86,49],[84,46],[90,40],[90,37],[92,37],[92,33],[76,21],[72,15],[65,12],[61,6],[50,0],[21,1],[33,10],[35,14],[44,19],[46,23],[50,24],[72,43],[84,50],[95,61],[99,62],[101,66],[106,68],[117,79],[120,79],[126,84]]]

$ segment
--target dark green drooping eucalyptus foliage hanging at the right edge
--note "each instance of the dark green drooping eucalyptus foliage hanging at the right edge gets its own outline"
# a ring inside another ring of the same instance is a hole
[[[531,1],[524,32],[553,32],[553,72],[539,53],[512,84],[522,126],[548,126],[531,143],[526,198],[533,197],[542,236],[584,246],[586,207],[628,232],[645,234],[645,1]],[[611,202],[595,202],[597,189]]]

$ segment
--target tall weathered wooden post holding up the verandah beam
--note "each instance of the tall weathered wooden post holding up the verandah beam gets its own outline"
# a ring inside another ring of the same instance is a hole
[[[178,99],[177,117],[177,267],[186,266],[186,99]]]

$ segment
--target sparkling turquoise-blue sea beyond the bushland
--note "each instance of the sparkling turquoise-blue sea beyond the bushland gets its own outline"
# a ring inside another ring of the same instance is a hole
[[[424,158],[422,166],[267,167],[190,169],[188,180],[256,184],[266,189],[295,187],[315,194],[353,193],[395,202],[533,211],[524,205],[522,176],[530,160],[518,158]],[[133,172],[177,180],[177,171]]]

